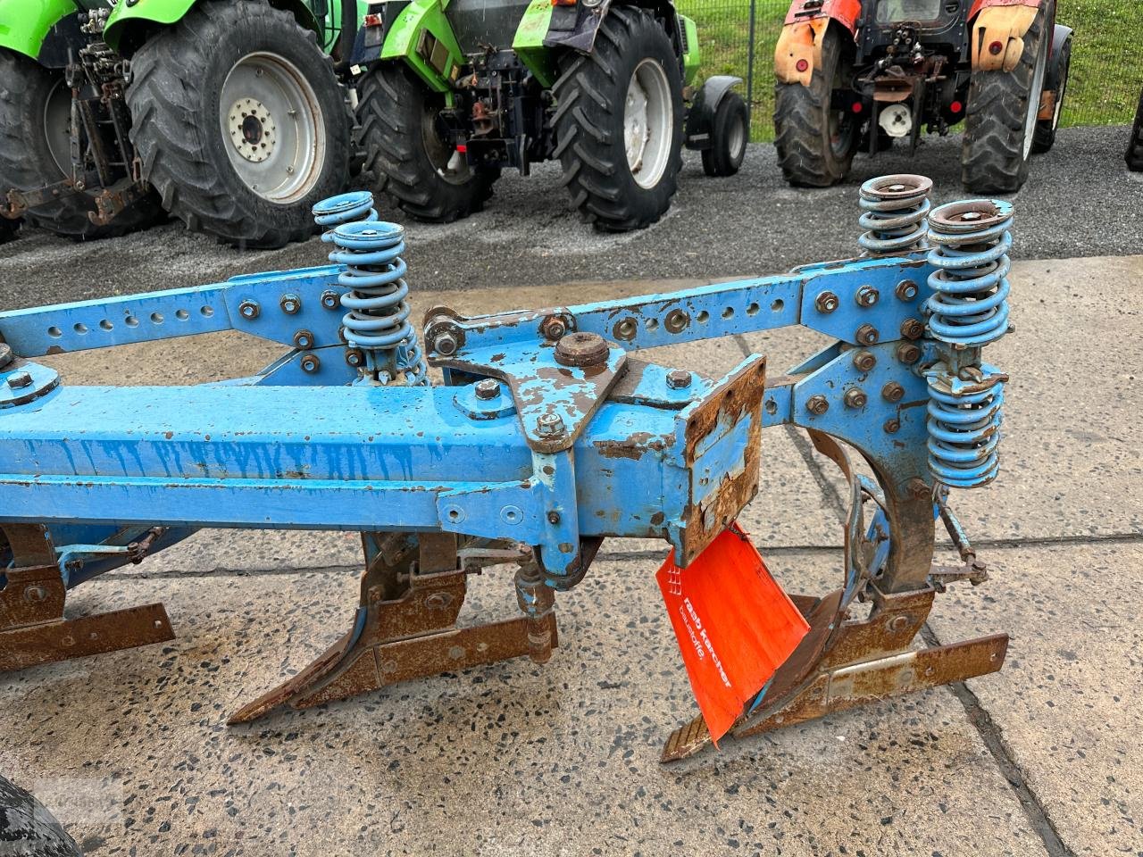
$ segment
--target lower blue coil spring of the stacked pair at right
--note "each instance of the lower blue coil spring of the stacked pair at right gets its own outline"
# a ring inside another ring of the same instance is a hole
[[[928,379],[928,465],[938,482],[977,488],[996,479],[1004,422],[1004,382],[990,366],[967,367],[950,378],[944,367]]]

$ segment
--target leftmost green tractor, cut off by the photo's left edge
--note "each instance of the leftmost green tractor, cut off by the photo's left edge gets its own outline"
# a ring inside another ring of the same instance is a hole
[[[359,21],[355,0],[0,0],[2,214],[74,239],[165,213],[239,246],[310,235],[349,181]]]

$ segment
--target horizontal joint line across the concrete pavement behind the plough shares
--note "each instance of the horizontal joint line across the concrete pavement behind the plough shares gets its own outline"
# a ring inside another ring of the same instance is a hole
[[[1110,532],[1106,535],[1093,536],[1033,536],[1030,538],[974,538],[975,547],[996,547],[999,550],[1018,550],[1022,547],[1052,547],[1056,545],[1096,545],[1096,544],[1140,544],[1143,543],[1143,532]],[[951,542],[942,542],[938,547],[951,547]],[[759,545],[767,555],[800,554],[800,553],[837,553],[845,550],[845,545]],[[664,546],[658,551],[600,551],[601,560],[654,560],[662,562],[666,559],[668,548]],[[177,568],[169,571],[136,571],[134,574],[121,574],[109,571],[99,575],[99,580],[159,580],[168,577],[274,577],[288,575],[343,575],[346,572],[358,574],[360,566],[283,566],[281,568],[248,569],[248,568],[210,568],[191,569]]]

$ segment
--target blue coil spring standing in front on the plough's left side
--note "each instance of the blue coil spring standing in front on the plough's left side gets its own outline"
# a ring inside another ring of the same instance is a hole
[[[359,349],[376,381],[389,383],[405,376],[408,386],[427,384],[427,368],[416,330],[409,323],[410,307],[405,282],[408,270],[405,229],[395,223],[363,221],[334,230],[330,262],[345,265],[337,282],[349,289],[342,306],[345,341]]]

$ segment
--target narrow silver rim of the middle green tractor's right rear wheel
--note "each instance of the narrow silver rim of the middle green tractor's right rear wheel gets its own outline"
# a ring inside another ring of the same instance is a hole
[[[666,171],[673,122],[666,72],[657,59],[644,59],[631,74],[623,103],[623,147],[631,176],[640,187],[654,187]]]

